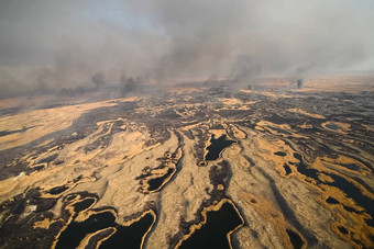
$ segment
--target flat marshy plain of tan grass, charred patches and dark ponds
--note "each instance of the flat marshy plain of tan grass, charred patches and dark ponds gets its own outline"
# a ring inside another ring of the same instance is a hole
[[[228,86],[0,100],[0,247],[373,248],[374,78]]]

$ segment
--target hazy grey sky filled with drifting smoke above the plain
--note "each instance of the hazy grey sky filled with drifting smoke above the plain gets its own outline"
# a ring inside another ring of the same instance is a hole
[[[372,0],[0,0],[0,90],[374,69]]]

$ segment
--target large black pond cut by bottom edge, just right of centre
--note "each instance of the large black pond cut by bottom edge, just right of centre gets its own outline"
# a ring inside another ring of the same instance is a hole
[[[224,203],[219,211],[207,213],[207,223],[195,231],[179,248],[226,248],[230,249],[227,234],[242,224],[238,212],[230,203]]]

